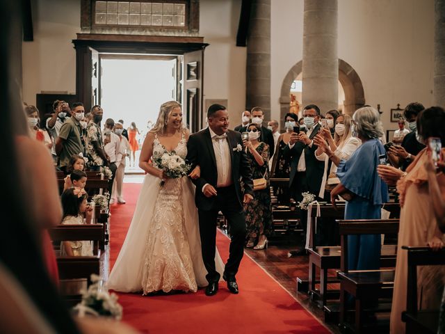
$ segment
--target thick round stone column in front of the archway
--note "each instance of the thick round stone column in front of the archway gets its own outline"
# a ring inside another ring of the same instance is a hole
[[[337,0],[305,0],[303,22],[302,107],[321,113],[338,108]]]

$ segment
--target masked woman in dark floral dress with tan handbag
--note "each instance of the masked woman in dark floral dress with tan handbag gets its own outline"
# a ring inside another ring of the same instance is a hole
[[[246,248],[261,250],[267,248],[267,235],[272,225],[272,207],[270,204],[270,186],[268,170],[268,145],[259,141],[261,127],[250,124],[247,127],[249,140],[243,141],[247,157],[252,167],[252,179],[266,179],[266,188],[254,190],[253,199],[244,205],[247,225]],[[256,244],[256,246],[255,246]]]

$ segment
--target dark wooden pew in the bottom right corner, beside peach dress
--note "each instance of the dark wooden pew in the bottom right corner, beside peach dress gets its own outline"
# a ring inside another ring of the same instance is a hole
[[[402,246],[408,253],[407,309],[402,313],[406,334],[437,333],[439,310],[417,309],[417,267],[445,264],[445,248],[433,251],[428,247]]]

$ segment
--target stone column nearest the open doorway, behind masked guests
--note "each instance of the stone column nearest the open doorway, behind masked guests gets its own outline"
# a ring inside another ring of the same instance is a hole
[[[261,106],[270,120],[270,0],[252,0],[245,94],[245,106]]]

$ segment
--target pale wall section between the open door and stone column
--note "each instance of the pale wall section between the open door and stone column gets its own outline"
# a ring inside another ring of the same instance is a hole
[[[236,47],[241,0],[201,0],[200,36],[204,51],[204,100],[228,100],[230,127],[245,108],[246,48]],[[204,111],[206,113],[207,111]]]

